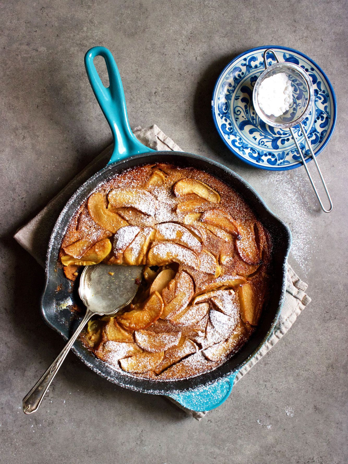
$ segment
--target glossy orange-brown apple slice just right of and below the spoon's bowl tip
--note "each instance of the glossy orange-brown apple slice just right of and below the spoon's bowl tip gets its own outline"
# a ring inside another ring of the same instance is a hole
[[[163,312],[163,300],[158,292],[153,293],[142,309],[133,309],[120,316],[117,322],[127,330],[147,329]]]

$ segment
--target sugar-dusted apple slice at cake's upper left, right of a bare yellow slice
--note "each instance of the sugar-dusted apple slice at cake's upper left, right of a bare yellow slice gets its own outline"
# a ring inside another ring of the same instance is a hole
[[[156,198],[145,190],[121,190],[114,188],[110,190],[108,200],[114,208],[132,207],[149,216],[155,215]]]

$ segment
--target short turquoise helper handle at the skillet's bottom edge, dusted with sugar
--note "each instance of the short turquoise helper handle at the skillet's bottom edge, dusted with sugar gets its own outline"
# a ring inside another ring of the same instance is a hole
[[[234,372],[227,379],[208,387],[199,387],[190,392],[173,393],[168,396],[191,411],[210,411],[228,399],[236,375],[237,372]]]

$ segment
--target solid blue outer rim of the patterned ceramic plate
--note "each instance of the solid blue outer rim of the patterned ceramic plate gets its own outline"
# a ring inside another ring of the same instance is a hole
[[[260,162],[256,162],[256,161],[252,161],[250,158],[248,159],[247,158],[247,155],[242,155],[240,153],[238,153],[238,151],[236,151],[232,146],[231,144],[228,142],[229,140],[229,135],[232,135],[232,134],[225,134],[222,132],[220,126],[219,126],[219,123],[216,119],[216,111],[217,111],[217,103],[218,103],[218,96],[217,96],[217,91],[219,90],[220,86],[221,86],[221,82],[223,81],[224,77],[226,77],[226,74],[228,73],[228,71],[232,70],[233,69],[233,65],[240,61],[240,58],[243,58],[243,57],[247,57],[247,55],[249,55],[250,53],[252,52],[259,52],[260,50],[264,51],[266,50],[267,48],[273,48],[275,49],[276,51],[277,50],[284,50],[285,52],[288,52],[288,53],[295,53],[296,55],[304,58],[305,60],[307,60],[310,64],[313,65],[313,68],[315,68],[313,71],[318,71],[319,73],[322,74],[323,76],[323,79],[326,81],[325,84],[326,84],[326,87],[327,87],[327,90],[329,91],[329,93],[331,94],[331,99],[332,99],[332,109],[331,109],[331,115],[330,115],[330,118],[331,118],[331,122],[329,122],[329,124],[331,124],[331,127],[329,129],[328,132],[325,133],[324,135],[324,141],[321,142],[319,148],[317,149],[314,149],[314,153],[315,155],[318,155],[322,150],[323,148],[325,148],[325,146],[327,145],[327,143],[329,142],[330,138],[331,138],[331,135],[333,134],[333,131],[335,129],[335,124],[336,124],[336,117],[337,117],[337,102],[336,102],[336,97],[335,97],[335,92],[334,92],[334,89],[332,88],[332,85],[328,79],[328,77],[326,76],[326,74],[324,73],[324,71],[321,69],[320,66],[318,66],[316,64],[315,61],[313,61],[311,58],[309,58],[307,55],[305,55],[304,53],[302,52],[298,52],[297,50],[294,50],[293,48],[289,48],[289,47],[283,47],[283,46],[278,46],[278,45],[265,45],[265,46],[260,46],[260,47],[256,47],[256,48],[251,48],[250,50],[247,50],[246,52],[243,52],[243,53],[240,53],[240,55],[238,55],[237,57],[235,57],[230,63],[228,63],[228,65],[223,69],[223,71],[221,72],[219,78],[217,79],[216,81],[216,84],[215,84],[215,87],[214,87],[214,92],[213,92],[213,98],[212,98],[212,102],[211,102],[211,105],[212,105],[212,113],[213,113],[213,120],[214,120],[214,124],[215,124],[215,127],[219,133],[219,135],[221,136],[221,139],[223,140],[223,142],[227,145],[227,147],[229,148],[230,151],[232,151],[232,153],[234,155],[236,155],[240,160],[244,161],[245,163],[249,164],[250,166],[253,166],[255,168],[259,168],[259,169],[266,169],[266,170],[269,170],[269,171],[283,171],[283,170],[289,170],[289,169],[294,169],[294,168],[298,168],[300,166],[302,166],[302,162],[293,162],[291,165],[286,165],[286,164],[281,164],[281,165],[271,165],[271,164],[262,164],[264,161],[262,161],[261,163]],[[295,57],[296,58],[296,57]],[[272,61],[270,59],[268,59],[268,62],[269,61]],[[255,69],[255,68],[254,68]],[[258,72],[258,75],[259,73],[261,73],[265,68],[260,68],[260,71]],[[255,79],[255,78],[254,78]],[[256,81],[256,79],[255,79]],[[243,82],[242,80],[240,80],[240,82]],[[329,96],[330,97],[330,96]],[[251,102],[249,102],[249,105],[251,104],[251,106],[253,105],[252,103],[252,99],[251,99]],[[311,115],[311,113],[310,113]],[[310,117],[309,115],[309,117]],[[257,117],[257,115],[255,114],[255,116]],[[314,115],[313,115],[314,117]],[[315,122],[315,119],[314,118],[314,122]],[[308,118],[307,118],[308,120]],[[306,120],[305,120],[306,121]],[[314,124],[313,122],[313,124]],[[311,126],[313,125],[311,124]],[[269,129],[269,126],[266,126],[266,130]],[[259,127],[259,126],[258,126]],[[272,132],[272,129],[274,130],[278,130],[278,129],[275,129],[275,128],[270,128],[270,132]],[[297,128],[294,128],[294,129],[297,129]],[[238,129],[240,130],[240,129]],[[259,132],[261,132],[262,129],[259,129]],[[298,129],[299,131],[299,129]],[[285,131],[284,131],[285,132]],[[308,131],[307,131],[308,132]],[[277,135],[277,134],[275,134]],[[287,134],[286,134],[287,135]],[[239,135],[240,137],[240,135]],[[283,138],[291,138],[291,135],[290,135],[290,132],[289,132],[289,136],[286,136],[284,135]],[[236,137],[235,137],[236,139]],[[304,144],[302,142],[302,139],[303,139],[303,136],[301,137],[301,143],[300,143],[300,146],[304,147]],[[250,148],[250,147],[248,147]],[[257,149],[255,150],[255,148],[253,147],[253,150],[254,151],[257,151]],[[295,155],[295,153],[297,153],[296,151],[296,148],[290,150],[291,152],[294,153],[293,157],[294,159],[296,160],[296,156],[298,157],[299,159],[299,155]],[[268,150],[268,152],[265,153],[265,155],[269,154],[269,155],[273,155],[274,156],[274,153],[276,153],[276,150],[273,150],[272,151],[272,148]],[[284,153],[284,152],[283,152]],[[290,153],[290,152],[289,152]],[[288,154],[289,154],[288,153]],[[308,153],[308,154],[307,154]],[[306,149],[306,155],[307,155],[307,158],[306,158],[306,163],[308,161],[311,160],[311,157],[308,156],[309,155],[309,150],[308,148]],[[262,158],[261,158],[262,159]],[[279,160],[278,160],[279,161]],[[282,160],[281,162],[285,163],[285,160]]]

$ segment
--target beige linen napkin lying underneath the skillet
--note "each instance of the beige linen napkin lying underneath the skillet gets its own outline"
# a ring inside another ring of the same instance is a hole
[[[183,151],[156,125],[153,125],[148,129],[135,128],[133,129],[133,132],[140,142],[154,150]],[[21,227],[14,235],[17,242],[42,266],[44,266],[51,231],[65,203],[85,180],[107,165],[111,157],[111,153],[112,145],[102,151],[101,154],[89,163],[89,165],[84,168],[80,174],[77,174],[76,177],[71,180],[69,184],[35,216],[35,218],[29,221],[25,226]],[[158,159],[158,161],[160,162],[161,160]],[[240,369],[239,373],[236,375],[234,383],[238,382],[238,380],[240,380],[243,375],[245,375],[267,353],[267,351],[269,351],[278,342],[278,340],[286,334],[295,322],[297,316],[301,313],[305,306],[310,303],[310,297],[305,293],[306,289],[307,284],[302,282],[302,280],[297,277],[295,272],[288,265],[285,301],[277,325],[275,326],[272,335],[269,337],[262,349],[260,349],[259,353],[256,354],[256,356],[254,356],[253,359],[242,369]],[[181,407],[177,402],[175,402],[175,404]],[[181,408],[197,420],[202,419],[202,417],[206,414],[204,411],[195,412],[183,407]]]

